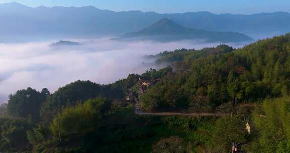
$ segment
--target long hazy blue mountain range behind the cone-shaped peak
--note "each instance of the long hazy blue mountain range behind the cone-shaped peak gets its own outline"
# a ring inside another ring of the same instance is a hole
[[[0,4],[0,37],[19,35],[116,35],[139,31],[163,18],[184,27],[244,34],[290,32],[290,13],[253,15],[188,12],[114,12],[87,7],[27,7],[19,3]],[[249,35],[251,36],[251,35]]]

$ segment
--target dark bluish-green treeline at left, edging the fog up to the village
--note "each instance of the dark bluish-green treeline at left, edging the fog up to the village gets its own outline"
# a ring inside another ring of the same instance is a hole
[[[109,85],[78,80],[59,88],[53,94],[46,88],[37,91],[29,87],[9,96],[7,111],[13,117],[32,117],[35,122],[49,123],[64,108],[84,103],[88,99],[123,99],[127,88],[133,87],[138,78],[139,75],[130,74],[127,79]]]

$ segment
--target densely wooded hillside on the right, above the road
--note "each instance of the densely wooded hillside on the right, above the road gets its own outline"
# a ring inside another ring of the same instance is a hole
[[[180,107],[214,111],[228,102],[236,106],[289,95],[290,34],[241,49],[220,45],[156,57],[157,63],[171,63],[174,71],[142,95],[146,111]]]

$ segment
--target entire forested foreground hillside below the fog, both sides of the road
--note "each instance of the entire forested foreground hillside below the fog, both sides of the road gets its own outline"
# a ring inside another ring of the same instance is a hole
[[[290,34],[241,49],[179,49],[154,58],[170,66],[109,85],[76,81],[54,93],[27,88],[10,95],[0,151],[219,153],[232,142],[244,152],[289,150]],[[136,101],[125,99],[139,88],[143,111],[232,115],[136,115]]]

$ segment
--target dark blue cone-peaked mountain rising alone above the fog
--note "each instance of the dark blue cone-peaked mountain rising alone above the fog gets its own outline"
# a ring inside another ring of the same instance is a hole
[[[167,18],[161,19],[153,25],[139,31],[126,33],[120,37],[123,40],[155,40],[155,41],[179,41],[201,40],[205,42],[243,42],[253,39],[234,32],[216,32],[202,29],[183,27]]]

